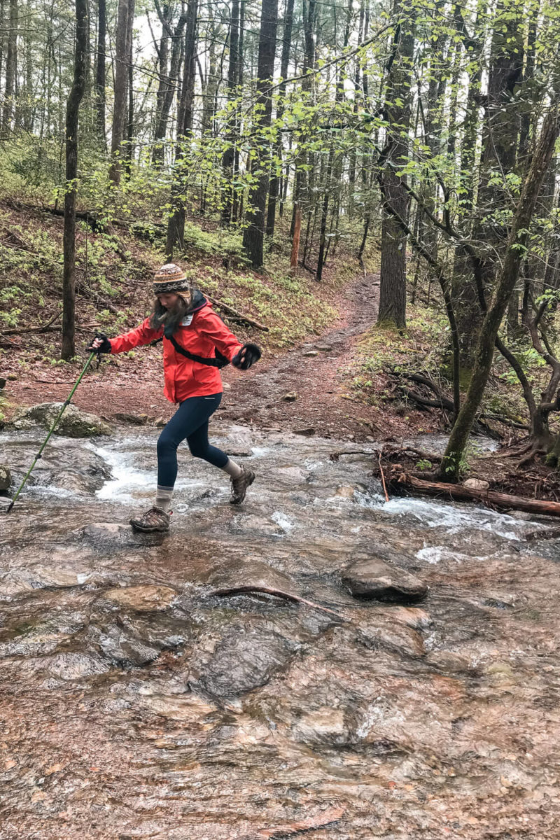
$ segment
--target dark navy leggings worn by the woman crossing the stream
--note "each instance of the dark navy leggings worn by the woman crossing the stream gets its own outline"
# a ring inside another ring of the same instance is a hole
[[[195,458],[203,458],[215,467],[225,467],[228,455],[208,443],[208,420],[216,411],[222,394],[190,396],[167,423],[158,439],[158,484],[175,486],[177,447],[185,440]]]

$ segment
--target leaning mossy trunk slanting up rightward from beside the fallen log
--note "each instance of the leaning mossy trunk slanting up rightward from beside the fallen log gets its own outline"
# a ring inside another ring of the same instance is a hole
[[[459,412],[457,422],[447,443],[442,459],[442,477],[447,480],[457,478],[463,465],[464,451],[473,428],[474,417],[479,409],[484,388],[488,381],[494,346],[500,323],[510,300],[511,292],[516,287],[521,260],[526,253],[526,242],[536,200],[552,160],[554,144],[560,129],[558,96],[542,124],[541,136],[531,160],[531,168],[521,190],[521,197],[516,207],[516,214],[511,225],[510,236],[505,249],[505,257],[500,276],[495,284],[494,296],[484,317],[477,344],[473,375],[468,386],[467,396]]]

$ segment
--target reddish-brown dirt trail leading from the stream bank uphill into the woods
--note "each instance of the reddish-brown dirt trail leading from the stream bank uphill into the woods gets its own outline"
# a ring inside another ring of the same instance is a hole
[[[360,335],[375,323],[378,300],[379,276],[359,276],[341,291],[338,319],[327,332],[275,358],[265,356],[247,372],[228,367],[223,371],[225,393],[216,420],[286,431],[312,428],[322,436],[357,441],[405,433],[407,424],[400,417],[365,405],[351,391],[348,371]],[[254,340],[259,340],[258,335]],[[105,363],[99,375],[81,383],[74,402],[108,419],[119,413],[168,419],[174,407],[162,393],[160,354],[160,346],[143,348],[134,359],[119,357],[118,367]],[[75,381],[74,373],[65,370],[63,376],[58,369],[38,365],[29,375],[9,382],[6,396],[14,406],[63,400]],[[288,393],[296,394],[294,402],[285,402]]]

